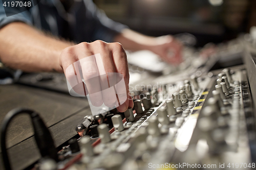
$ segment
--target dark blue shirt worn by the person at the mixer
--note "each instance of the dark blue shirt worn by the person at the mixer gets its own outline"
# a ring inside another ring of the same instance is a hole
[[[18,13],[16,7],[8,10]],[[113,42],[113,38],[127,28],[106,17],[91,0],[75,0],[68,10],[59,0],[41,0],[33,8],[8,17],[0,1],[0,28],[15,21],[77,43],[95,40]]]

